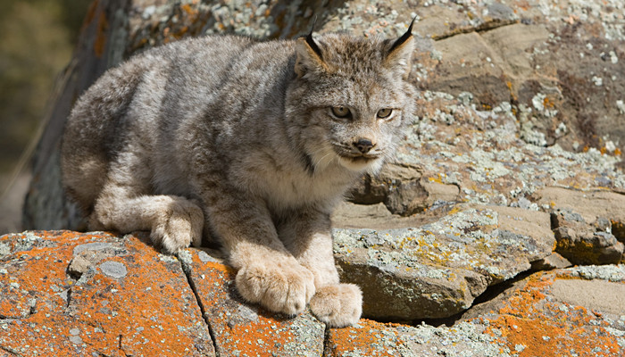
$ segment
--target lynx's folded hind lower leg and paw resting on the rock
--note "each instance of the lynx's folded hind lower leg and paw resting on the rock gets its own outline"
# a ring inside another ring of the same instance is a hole
[[[204,213],[187,198],[175,195],[139,195],[121,187],[104,187],[89,221],[90,229],[116,229],[123,233],[150,230],[154,245],[176,253],[202,243]]]

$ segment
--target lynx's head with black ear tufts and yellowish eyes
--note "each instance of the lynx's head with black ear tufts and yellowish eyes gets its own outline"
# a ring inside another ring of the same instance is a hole
[[[296,41],[287,89],[289,135],[312,170],[337,163],[375,172],[412,116],[412,24],[397,39],[327,34]]]

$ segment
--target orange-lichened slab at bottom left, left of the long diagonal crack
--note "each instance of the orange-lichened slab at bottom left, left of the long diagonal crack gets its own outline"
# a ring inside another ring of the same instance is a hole
[[[68,231],[0,237],[0,351],[215,355],[175,257],[134,236]]]

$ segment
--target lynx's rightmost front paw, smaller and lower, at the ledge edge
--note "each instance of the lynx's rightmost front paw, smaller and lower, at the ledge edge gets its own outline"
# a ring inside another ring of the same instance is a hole
[[[323,286],[312,296],[311,311],[332,328],[354,325],[362,313],[362,292],[354,284]]]

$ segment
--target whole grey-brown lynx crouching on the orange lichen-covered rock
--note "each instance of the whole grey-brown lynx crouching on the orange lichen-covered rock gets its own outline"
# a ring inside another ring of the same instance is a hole
[[[411,120],[412,24],[396,39],[198,37],[138,54],[79,97],[63,184],[89,229],[218,241],[250,303],[332,327],[360,319],[329,214]]]

